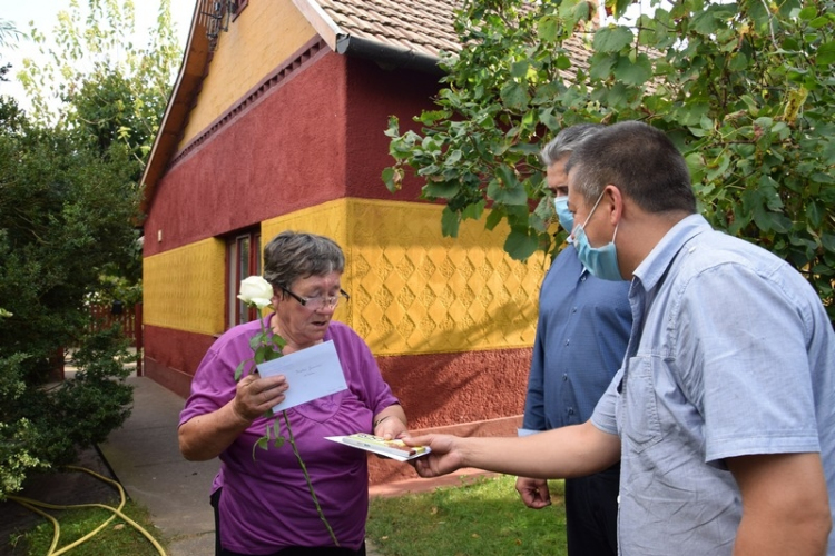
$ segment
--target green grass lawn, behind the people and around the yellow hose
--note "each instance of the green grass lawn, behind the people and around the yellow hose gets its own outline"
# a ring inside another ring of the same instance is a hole
[[[373,498],[367,537],[385,556],[564,556],[563,484],[561,480],[549,484],[552,505],[541,510],[522,504],[512,476],[482,477],[431,493]],[[60,524],[59,549],[111,516],[99,508],[48,513]],[[145,508],[129,500],[122,513],[163,544]],[[33,529],[12,536],[8,546],[13,555],[42,556],[49,554],[52,536],[52,524],[45,519]],[[145,536],[116,517],[68,554],[154,556],[159,553]]]

